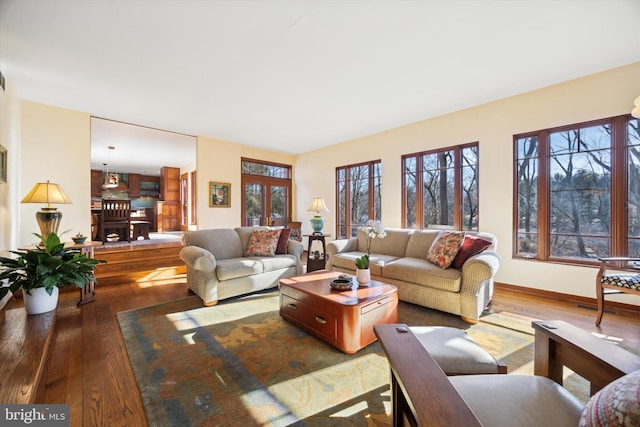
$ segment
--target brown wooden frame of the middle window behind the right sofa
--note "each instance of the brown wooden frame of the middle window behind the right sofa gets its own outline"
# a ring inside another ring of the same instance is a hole
[[[406,168],[405,161],[409,158],[414,158],[416,162],[416,219],[415,219],[415,229],[423,230],[428,229],[428,227],[424,227],[424,197],[423,191],[418,191],[418,188],[423,188],[424,186],[424,164],[423,164],[423,156],[430,154],[437,154],[446,151],[453,151],[454,153],[454,177],[453,177],[453,226],[452,230],[467,230],[463,228],[463,216],[464,216],[464,185],[463,185],[463,169],[466,167],[462,163],[462,150],[466,148],[474,148],[476,149],[476,187],[477,187],[477,227],[476,230],[469,231],[477,231],[480,229],[480,143],[479,141],[468,142],[465,144],[452,145],[448,147],[435,148],[426,151],[420,151],[411,154],[404,154],[400,158],[400,170],[401,170],[401,182],[402,182],[402,227],[403,228],[411,228],[409,224],[407,224],[407,181],[406,181]],[[443,226],[444,227],[444,226]],[[449,228],[447,228],[449,229]]]

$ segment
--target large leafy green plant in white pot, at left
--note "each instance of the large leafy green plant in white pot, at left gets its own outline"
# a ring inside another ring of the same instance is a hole
[[[35,234],[35,233],[34,233]],[[38,236],[41,246],[11,251],[17,258],[0,257],[0,281],[9,286],[0,287],[0,299],[11,291],[23,290],[27,314],[46,313],[58,305],[59,288],[82,288],[95,281],[94,270],[105,261],[88,258],[79,248],[65,248],[56,233],[46,239]]]

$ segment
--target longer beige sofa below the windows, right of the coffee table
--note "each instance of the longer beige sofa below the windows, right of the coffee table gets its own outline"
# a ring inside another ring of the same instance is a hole
[[[493,242],[469,258],[461,270],[442,269],[427,261],[427,252],[440,230],[387,229],[386,237],[371,239],[371,278],[398,287],[398,298],[424,307],[478,321],[493,297],[493,278],[501,258],[496,237],[472,233]],[[334,240],[327,244],[327,269],[355,274],[354,260],[366,253],[367,235]]]

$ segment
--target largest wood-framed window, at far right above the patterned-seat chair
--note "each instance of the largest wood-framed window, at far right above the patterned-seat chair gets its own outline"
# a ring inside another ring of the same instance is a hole
[[[629,116],[514,136],[515,256],[640,256],[640,133]]]

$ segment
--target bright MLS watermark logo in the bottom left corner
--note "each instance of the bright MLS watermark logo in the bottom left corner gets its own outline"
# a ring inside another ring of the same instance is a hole
[[[2,405],[0,425],[69,427],[69,405]]]

